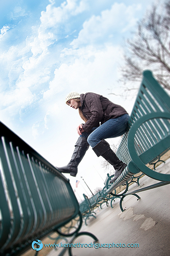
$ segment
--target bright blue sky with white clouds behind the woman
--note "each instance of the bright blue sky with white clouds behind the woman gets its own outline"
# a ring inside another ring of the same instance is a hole
[[[82,120],[65,96],[102,94],[130,114],[137,91],[125,94],[118,82],[124,41],[152,2],[1,0],[0,121],[54,166],[68,164]],[[78,200],[91,195],[81,177],[92,191],[104,187],[107,172],[101,162],[89,148],[77,177],[65,175]]]

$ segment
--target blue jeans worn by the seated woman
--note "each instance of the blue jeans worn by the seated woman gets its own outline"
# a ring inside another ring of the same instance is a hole
[[[94,127],[90,132],[82,132],[80,137],[87,138],[87,142],[93,148],[102,139],[115,138],[123,135],[126,131],[129,115],[124,114],[122,116],[109,119],[99,127]]]

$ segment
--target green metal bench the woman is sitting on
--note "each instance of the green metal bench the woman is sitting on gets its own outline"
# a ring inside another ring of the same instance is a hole
[[[137,196],[136,192],[156,188],[170,183],[170,174],[159,173],[148,168],[155,160],[161,161],[160,156],[170,148],[170,97],[158,84],[149,70],[144,71],[143,80],[129,118],[127,132],[122,137],[116,155],[128,164],[122,174],[110,185],[107,184],[106,194],[122,196]],[[154,164],[155,165],[155,164]],[[161,182],[141,188],[133,192],[128,191],[128,180],[136,173],[143,172],[152,179]],[[115,188],[126,183],[126,189],[120,195],[113,192]],[[138,200],[137,199],[137,200]]]

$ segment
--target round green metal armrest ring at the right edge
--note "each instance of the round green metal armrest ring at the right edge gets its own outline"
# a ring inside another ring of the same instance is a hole
[[[164,173],[158,173],[150,168],[148,168],[140,159],[140,156],[137,155],[137,152],[135,150],[135,143],[134,143],[134,137],[137,132],[137,129],[146,121],[154,119],[154,118],[165,118],[170,119],[170,113],[166,112],[157,112],[157,113],[151,113],[147,114],[145,116],[142,116],[139,118],[130,128],[129,134],[128,134],[128,140],[127,140],[127,146],[129,150],[129,155],[132,159],[132,162],[147,176],[151,177],[155,180],[161,180],[161,181],[170,181],[170,174],[164,174]],[[166,138],[166,143],[169,143],[170,141],[170,135]],[[169,143],[170,146],[170,143]],[[166,148],[165,148],[166,149]]]

